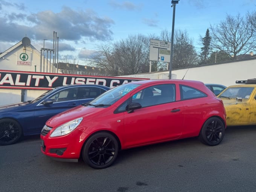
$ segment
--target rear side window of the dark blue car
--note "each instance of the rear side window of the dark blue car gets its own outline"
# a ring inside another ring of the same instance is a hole
[[[105,90],[99,87],[79,87],[77,99],[93,99],[104,92]]]

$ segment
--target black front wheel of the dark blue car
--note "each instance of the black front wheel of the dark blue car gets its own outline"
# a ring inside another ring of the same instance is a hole
[[[0,120],[0,145],[11,145],[16,143],[22,136],[20,124],[14,119]]]

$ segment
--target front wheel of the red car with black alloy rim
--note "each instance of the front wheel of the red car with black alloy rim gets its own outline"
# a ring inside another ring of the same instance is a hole
[[[82,157],[84,162],[95,169],[110,166],[117,157],[119,146],[110,133],[100,132],[91,136],[84,145]]]

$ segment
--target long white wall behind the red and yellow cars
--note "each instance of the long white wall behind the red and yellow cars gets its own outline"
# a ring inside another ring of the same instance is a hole
[[[123,77],[169,79],[169,71],[126,75]],[[197,80],[204,83],[230,86],[234,85],[236,80],[256,78],[256,59],[172,70],[172,79],[182,79],[183,77],[184,79]]]

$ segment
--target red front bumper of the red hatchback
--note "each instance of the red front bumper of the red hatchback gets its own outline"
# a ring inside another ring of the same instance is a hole
[[[61,158],[64,161],[77,161],[80,157],[81,149],[85,140],[85,133],[74,130],[71,133],[50,137],[49,133],[43,133],[41,137],[41,152],[49,157]]]

